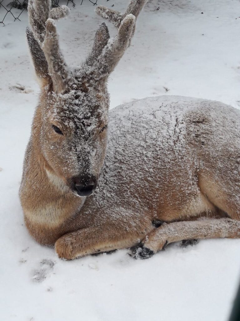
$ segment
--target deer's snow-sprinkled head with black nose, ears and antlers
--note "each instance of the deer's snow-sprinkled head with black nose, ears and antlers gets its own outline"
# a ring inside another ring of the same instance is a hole
[[[106,82],[129,46],[135,16],[125,15],[112,39],[102,23],[82,67],[70,69],[61,54],[55,25],[69,9],[50,9],[50,3],[28,2],[28,46],[41,84],[32,138],[48,176],[60,178],[76,195],[87,196],[97,186],[107,146]]]

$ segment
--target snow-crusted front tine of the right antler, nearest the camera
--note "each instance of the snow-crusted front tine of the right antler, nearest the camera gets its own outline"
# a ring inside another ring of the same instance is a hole
[[[97,77],[106,78],[113,71],[128,48],[135,22],[135,16],[128,14],[121,22],[115,38],[108,40],[107,45],[93,65]]]

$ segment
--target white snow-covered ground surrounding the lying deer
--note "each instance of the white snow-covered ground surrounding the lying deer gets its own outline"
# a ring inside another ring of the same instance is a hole
[[[120,11],[127,2],[98,1]],[[90,2],[76,3],[70,17],[58,22],[69,65],[81,64],[102,21]],[[239,16],[238,0],[150,0],[109,79],[111,108],[161,94],[238,108]],[[0,25],[0,319],[226,321],[239,282],[240,240],[173,244],[143,261],[127,250],[62,261],[28,235],[18,189],[38,85],[26,24],[24,12],[21,22]]]

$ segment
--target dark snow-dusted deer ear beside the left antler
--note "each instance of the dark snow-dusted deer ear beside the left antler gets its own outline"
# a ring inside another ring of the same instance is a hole
[[[31,53],[35,73],[39,79],[41,86],[45,86],[52,82],[51,77],[48,74],[48,65],[39,43],[34,38],[32,31],[27,27],[26,35],[28,40],[28,48]]]

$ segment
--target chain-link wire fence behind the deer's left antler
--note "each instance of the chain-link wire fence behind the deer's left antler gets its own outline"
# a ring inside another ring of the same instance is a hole
[[[52,7],[59,7],[60,0],[52,0]],[[65,0],[65,4],[71,3],[75,6],[75,2],[77,0]],[[80,0],[81,4],[84,0]],[[93,5],[97,4],[98,0],[88,0]],[[62,2],[62,1],[61,1]],[[10,22],[11,20],[16,21],[20,20],[20,16],[24,10],[27,10],[28,7],[28,0],[0,0],[0,24],[5,25],[6,22]]]

